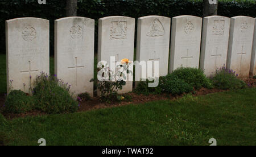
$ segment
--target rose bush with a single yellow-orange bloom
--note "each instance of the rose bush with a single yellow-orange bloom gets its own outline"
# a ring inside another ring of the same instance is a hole
[[[115,66],[117,72],[111,71],[106,65],[99,63],[101,67],[98,71],[98,80],[96,86],[100,91],[101,101],[111,103],[112,101],[122,101],[123,97],[118,96],[118,90],[121,90],[126,85],[127,74],[132,73],[129,70],[131,63],[129,59],[122,59],[119,64]]]

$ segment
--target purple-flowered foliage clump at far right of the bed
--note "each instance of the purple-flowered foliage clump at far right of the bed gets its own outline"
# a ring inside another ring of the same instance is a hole
[[[210,79],[213,82],[214,87],[218,89],[240,89],[245,88],[246,83],[237,78],[238,74],[232,69],[227,69],[225,67],[218,68],[216,73]]]

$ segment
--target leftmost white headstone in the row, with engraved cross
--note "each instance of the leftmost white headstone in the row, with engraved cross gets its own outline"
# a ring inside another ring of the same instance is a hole
[[[6,21],[7,92],[32,92],[40,72],[49,74],[49,21],[17,18]]]

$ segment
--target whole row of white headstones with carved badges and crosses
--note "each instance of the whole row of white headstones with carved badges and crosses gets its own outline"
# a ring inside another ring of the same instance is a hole
[[[204,69],[207,76],[226,64],[241,77],[255,75],[255,19],[247,16],[144,16],[138,19],[137,60],[159,61],[159,76],[179,67]],[[230,27],[230,28],[229,28]],[[170,49],[171,28],[171,52]],[[109,16],[99,20],[98,61],[133,61],[135,19]],[[254,34],[254,44],[253,44]],[[202,39],[202,41],[201,41]],[[201,45],[201,47],[200,47]],[[251,49],[253,47],[253,52]],[[201,55],[200,55],[201,49]],[[18,18],[6,21],[7,85],[29,93],[40,72],[49,73],[49,21]],[[71,91],[93,95],[94,20],[55,20],[55,74]],[[251,65],[250,65],[251,63]],[[110,63],[111,64],[111,63]],[[152,66],[154,67],[154,65]],[[154,73],[154,68],[152,68]],[[140,72],[136,72],[141,75]],[[130,92],[132,81],[121,91]],[[8,88],[9,90],[9,88]]]

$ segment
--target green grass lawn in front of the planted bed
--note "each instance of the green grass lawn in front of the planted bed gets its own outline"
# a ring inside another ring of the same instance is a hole
[[[4,121],[7,145],[256,145],[256,88]]]

